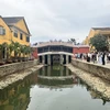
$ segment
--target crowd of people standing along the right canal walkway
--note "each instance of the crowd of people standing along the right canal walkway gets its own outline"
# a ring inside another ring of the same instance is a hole
[[[110,62],[110,52],[91,52],[91,53],[78,53],[74,54],[75,58],[86,59],[88,63],[94,62],[101,65],[106,65]]]

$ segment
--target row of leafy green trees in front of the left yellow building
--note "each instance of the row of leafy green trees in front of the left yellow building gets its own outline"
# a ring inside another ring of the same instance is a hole
[[[25,55],[31,54],[31,47],[26,46],[26,45],[21,45],[18,42],[11,42],[10,44],[3,43],[0,44],[0,59],[2,61],[3,57],[3,51],[7,52],[7,61],[11,61],[11,55],[12,52],[14,52],[14,59],[18,59],[18,57],[20,58],[21,55],[23,54],[23,57],[25,57]]]

